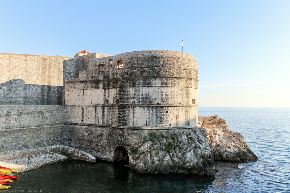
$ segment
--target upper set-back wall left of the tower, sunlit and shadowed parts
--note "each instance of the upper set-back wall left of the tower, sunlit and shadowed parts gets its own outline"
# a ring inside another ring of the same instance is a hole
[[[70,58],[0,53],[0,105],[61,105],[63,61]]]

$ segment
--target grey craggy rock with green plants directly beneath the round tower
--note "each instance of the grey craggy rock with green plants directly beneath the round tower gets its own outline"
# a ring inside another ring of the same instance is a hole
[[[128,167],[137,173],[213,175],[217,171],[203,128],[127,131],[126,138]]]

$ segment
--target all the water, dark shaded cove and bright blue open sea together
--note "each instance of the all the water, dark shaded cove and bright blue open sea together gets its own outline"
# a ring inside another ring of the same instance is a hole
[[[43,192],[290,192],[290,108],[199,108],[240,132],[257,162],[218,162],[213,177],[140,175],[107,162],[68,161],[19,176],[11,190]]]

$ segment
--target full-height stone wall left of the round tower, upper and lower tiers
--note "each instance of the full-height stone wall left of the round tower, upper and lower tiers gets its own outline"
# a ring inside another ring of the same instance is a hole
[[[84,58],[0,53],[0,160],[62,145],[64,79],[77,78]],[[67,61],[70,59],[69,63]],[[35,149],[32,150],[32,149]],[[21,151],[21,154],[15,152]],[[28,153],[27,152],[27,153]],[[53,153],[53,152],[52,152]]]

